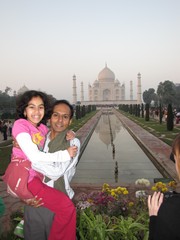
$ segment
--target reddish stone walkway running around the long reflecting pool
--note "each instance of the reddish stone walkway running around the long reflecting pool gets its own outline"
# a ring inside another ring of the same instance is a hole
[[[164,173],[167,174],[167,176],[177,180],[174,163],[169,159],[171,147],[154,137],[151,133],[139,127],[131,120],[127,119],[122,114],[116,112],[116,115],[121,119],[128,131],[134,138],[137,139],[140,146],[144,149],[144,151],[146,151],[146,153],[148,153],[157,166],[161,168]],[[95,124],[98,122],[99,117],[100,112],[90,119],[89,122],[87,122],[77,132],[77,136],[82,144],[82,149],[85,148],[86,144],[88,143],[88,138],[90,138],[91,132],[94,130]],[[99,189],[101,186],[98,186],[98,184],[96,186],[73,184],[72,187],[74,188],[76,195],[78,195],[79,192],[87,192],[91,189]],[[21,207],[23,207],[23,203],[19,201],[19,199],[15,199],[7,194],[6,186],[2,181],[0,181],[0,196],[2,197],[6,206],[5,214],[0,219],[0,224],[3,227],[3,230],[7,231],[9,228],[11,213],[21,209]]]

